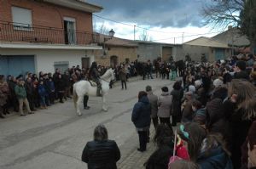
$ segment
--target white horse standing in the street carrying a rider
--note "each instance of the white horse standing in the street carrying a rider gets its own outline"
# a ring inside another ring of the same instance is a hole
[[[108,111],[105,96],[108,94],[109,82],[111,80],[114,80],[114,73],[110,68],[100,77],[100,82],[102,83],[102,110],[104,111]],[[88,81],[79,81],[73,84],[73,102],[79,116],[82,115],[79,105],[83,102],[84,95],[96,96],[96,91],[97,87],[92,87]]]

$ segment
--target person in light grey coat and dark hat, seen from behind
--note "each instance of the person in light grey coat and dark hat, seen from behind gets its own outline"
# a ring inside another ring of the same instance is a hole
[[[172,95],[168,92],[168,87],[162,87],[162,93],[158,99],[158,113],[160,118],[160,124],[166,124],[172,128],[170,122],[171,110],[172,110]]]

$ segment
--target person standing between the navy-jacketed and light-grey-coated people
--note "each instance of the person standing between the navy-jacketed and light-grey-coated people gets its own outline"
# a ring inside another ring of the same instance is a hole
[[[158,97],[156,95],[154,95],[154,93],[152,92],[152,87],[151,86],[147,86],[146,87],[146,92],[148,93],[148,100],[151,106],[151,114],[150,117],[153,121],[154,124],[154,129],[156,129],[157,125],[158,125],[158,116],[157,116],[157,111],[158,111]]]

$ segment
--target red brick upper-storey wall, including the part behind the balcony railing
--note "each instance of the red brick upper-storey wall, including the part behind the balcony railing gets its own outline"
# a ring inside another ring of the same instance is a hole
[[[76,42],[78,44],[90,44],[92,37],[84,31],[92,33],[92,14],[57,6],[50,3],[40,3],[29,0],[1,0],[0,21],[13,22],[11,7],[28,8],[32,10],[32,31],[14,30],[13,25],[1,25],[0,39],[8,42],[30,42],[37,39],[38,42],[65,43],[64,17],[75,19]],[[0,22],[1,23],[1,22]],[[44,26],[44,27],[42,27]],[[54,29],[49,29],[54,28]],[[81,32],[83,31],[83,32]]]

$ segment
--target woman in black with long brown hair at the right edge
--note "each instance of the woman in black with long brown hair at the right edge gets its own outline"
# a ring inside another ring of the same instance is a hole
[[[231,160],[235,169],[241,167],[241,145],[246,141],[249,128],[256,120],[255,91],[251,82],[239,79],[232,80],[228,87],[230,100],[224,103],[224,109],[225,114],[230,113]]]

